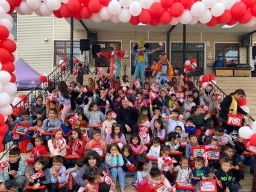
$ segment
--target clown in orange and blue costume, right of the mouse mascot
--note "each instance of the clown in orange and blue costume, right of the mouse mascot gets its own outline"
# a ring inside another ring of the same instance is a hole
[[[158,61],[157,65],[155,66],[155,72],[157,72],[157,79],[156,82],[159,82],[158,87],[160,84],[166,85],[168,78],[173,76],[173,69],[172,64],[170,64],[169,60],[166,58],[166,53],[162,52],[160,54],[160,61]]]

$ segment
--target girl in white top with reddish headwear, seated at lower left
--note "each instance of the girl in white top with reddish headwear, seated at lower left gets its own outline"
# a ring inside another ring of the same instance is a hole
[[[63,140],[63,144],[57,146],[58,140]],[[55,128],[52,131],[52,139],[48,141],[48,147],[51,152],[51,158],[56,155],[65,156],[67,154],[66,140],[62,138],[61,128]]]

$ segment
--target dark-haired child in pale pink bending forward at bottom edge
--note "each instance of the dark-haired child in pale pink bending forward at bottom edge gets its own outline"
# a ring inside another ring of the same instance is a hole
[[[172,191],[172,187],[174,186],[170,185],[170,182],[164,176],[161,176],[161,171],[157,167],[153,167],[150,170],[150,177],[148,178],[148,183],[152,184],[154,188],[157,188],[159,184],[163,183],[164,187],[169,192]]]

